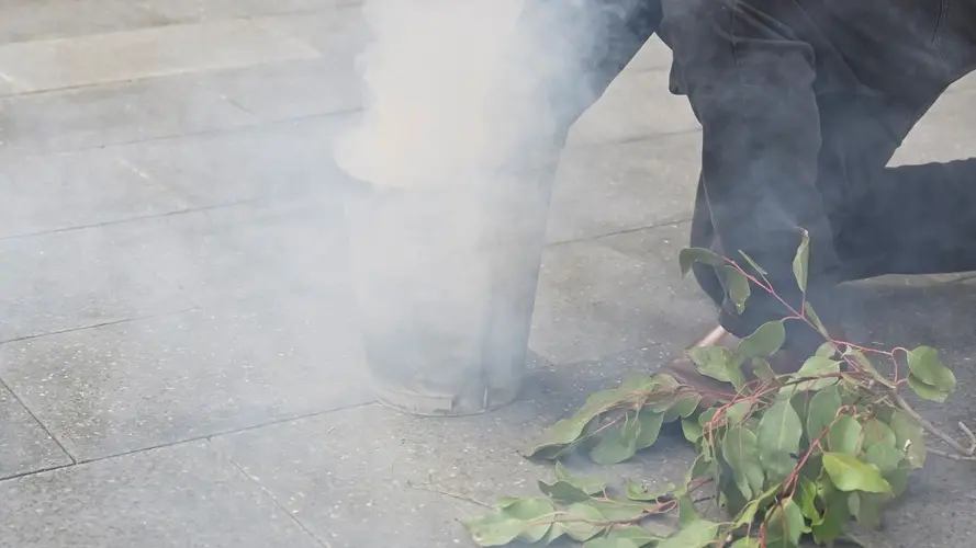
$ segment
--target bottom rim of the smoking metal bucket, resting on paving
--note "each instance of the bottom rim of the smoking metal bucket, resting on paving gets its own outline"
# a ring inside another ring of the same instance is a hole
[[[420,393],[373,383],[377,401],[389,409],[418,416],[469,416],[487,413],[508,406],[518,397],[518,388],[504,390],[485,388],[481,398],[470,395]]]

